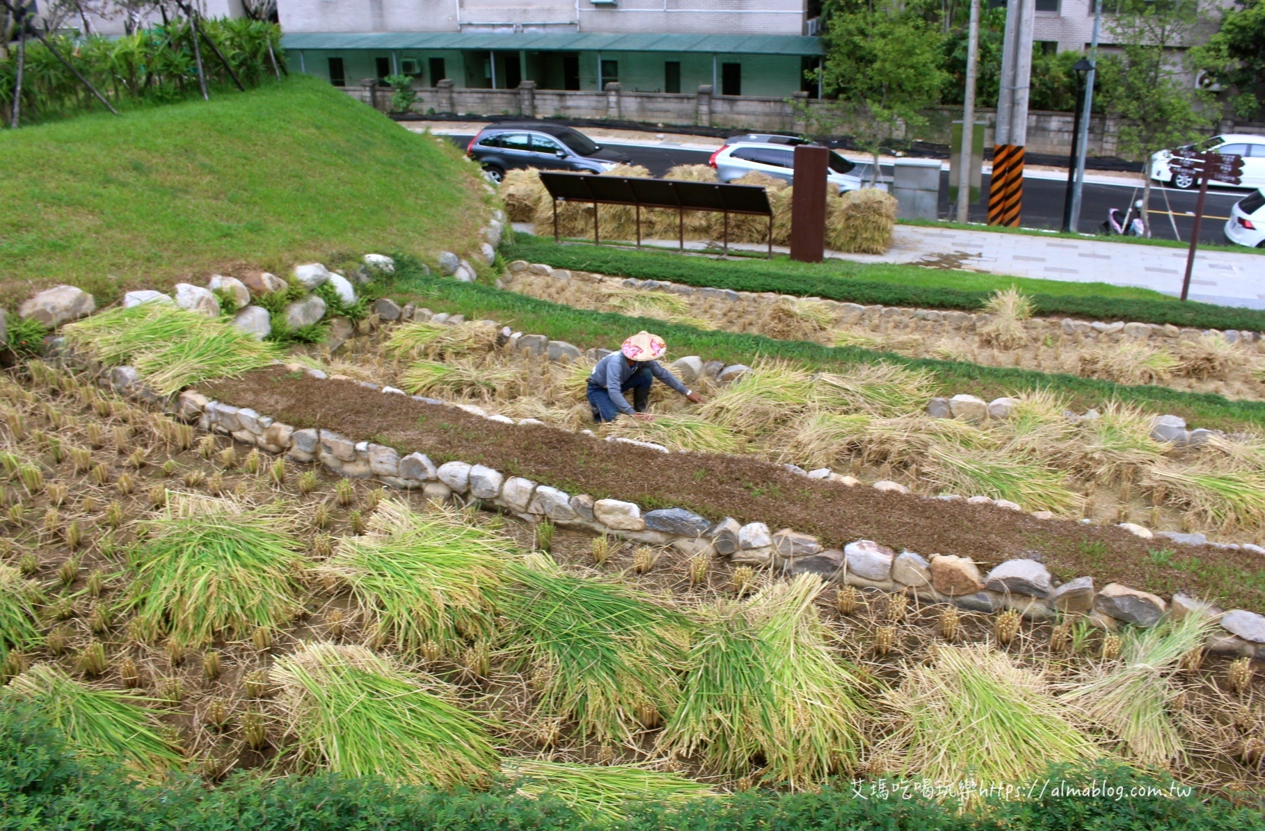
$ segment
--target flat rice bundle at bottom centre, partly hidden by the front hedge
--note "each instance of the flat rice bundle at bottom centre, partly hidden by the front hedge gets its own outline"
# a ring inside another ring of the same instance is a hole
[[[616,820],[630,802],[679,804],[712,796],[701,782],[640,765],[506,759],[501,773],[515,793],[531,799],[554,797],[589,820]]]

